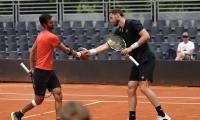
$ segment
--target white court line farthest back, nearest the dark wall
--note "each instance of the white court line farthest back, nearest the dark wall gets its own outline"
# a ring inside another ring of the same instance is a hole
[[[34,94],[31,93],[0,93],[0,95],[26,95],[26,96],[32,96]],[[82,96],[82,97],[121,97],[121,98],[127,98],[128,96],[125,95],[92,95],[92,94],[63,94],[64,96]],[[145,96],[137,96],[139,98],[146,98]],[[200,99],[200,97],[158,97],[160,99]]]

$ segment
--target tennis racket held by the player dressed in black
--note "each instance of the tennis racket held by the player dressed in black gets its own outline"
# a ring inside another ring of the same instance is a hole
[[[122,51],[126,48],[126,42],[118,35],[109,34],[106,41],[110,48],[115,51]],[[128,55],[128,57],[133,63],[135,63],[136,66],[139,66],[139,63],[132,56]]]

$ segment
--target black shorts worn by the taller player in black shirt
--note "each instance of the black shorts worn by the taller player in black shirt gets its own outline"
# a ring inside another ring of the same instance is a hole
[[[155,58],[148,58],[140,63],[139,66],[132,66],[129,81],[145,81],[153,82],[153,72],[155,68]]]

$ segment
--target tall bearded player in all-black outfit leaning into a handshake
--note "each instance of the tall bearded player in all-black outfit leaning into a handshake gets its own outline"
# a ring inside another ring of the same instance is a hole
[[[138,20],[126,20],[120,9],[111,10],[109,13],[110,22],[117,27],[115,34],[124,38],[127,48],[121,51],[122,55],[131,55],[139,62],[139,66],[132,66],[130,79],[128,81],[128,103],[129,120],[136,120],[137,95],[136,90],[139,87],[141,92],[149,99],[155,107],[158,117],[156,120],[171,120],[163,111],[161,104],[154,92],[149,88],[149,82],[153,81],[153,71],[155,67],[154,54],[149,49],[147,42],[150,35]],[[98,46],[95,49],[83,49],[84,56],[89,57],[110,49],[107,43]]]

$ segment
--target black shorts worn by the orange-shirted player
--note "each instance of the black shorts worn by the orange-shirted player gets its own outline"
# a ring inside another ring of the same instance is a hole
[[[36,68],[32,79],[35,95],[38,96],[45,96],[46,89],[51,92],[52,89],[61,87],[54,71]]]

